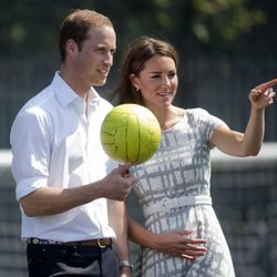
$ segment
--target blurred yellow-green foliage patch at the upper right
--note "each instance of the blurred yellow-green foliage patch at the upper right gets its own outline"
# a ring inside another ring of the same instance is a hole
[[[235,41],[267,21],[265,11],[249,0],[194,0],[192,4],[193,31],[203,43]]]

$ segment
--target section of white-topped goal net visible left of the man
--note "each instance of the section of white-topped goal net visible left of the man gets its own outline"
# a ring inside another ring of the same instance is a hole
[[[27,277],[25,249],[20,239],[21,217],[10,161],[10,152],[0,151],[0,277]]]

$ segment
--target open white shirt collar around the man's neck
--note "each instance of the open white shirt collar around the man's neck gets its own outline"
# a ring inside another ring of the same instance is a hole
[[[54,74],[54,79],[52,81],[52,86],[55,92],[57,99],[62,107],[68,106],[75,100],[80,100],[81,98],[69,86],[66,82],[60,76],[60,73],[57,71]],[[98,105],[100,103],[100,95],[91,86],[91,91],[89,93],[88,102],[91,105]]]

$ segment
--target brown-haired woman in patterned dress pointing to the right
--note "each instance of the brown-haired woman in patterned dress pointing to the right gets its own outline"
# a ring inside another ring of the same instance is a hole
[[[145,228],[129,220],[130,237],[142,246],[138,276],[235,276],[232,257],[212,206],[213,146],[235,156],[257,155],[264,112],[275,92],[263,84],[249,93],[252,112],[245,133],[230,130],[203,109],[173,105],[178,79],[177,52],[166,41],[140,37],[129,48],[119,86],[119,103],[148,107],[162,129],[157,152],[132,166]]]

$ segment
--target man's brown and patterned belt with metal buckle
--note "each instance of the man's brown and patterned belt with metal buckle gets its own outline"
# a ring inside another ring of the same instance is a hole
[[[27,239],[27,243],[28,244],[43,244],[43,245],[66,245],[66,246],[98,246],[100,248],[104,248],[112,244],[112,239],[111,238],[98,238],[98,239],[63,243],[63,242],[31,237]]]

